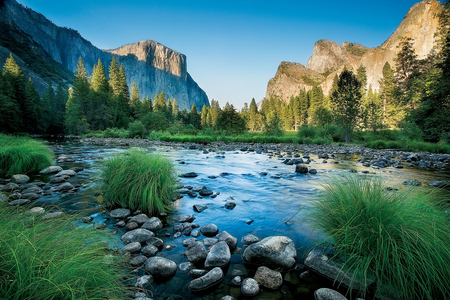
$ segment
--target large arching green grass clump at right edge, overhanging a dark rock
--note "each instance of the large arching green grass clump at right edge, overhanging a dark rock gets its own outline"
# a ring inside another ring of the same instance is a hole
[[[386,190],[380,176],[332,178],[311,219],[353,279],[374,271],[378,287],[401,299],[450,299],[450,218],[437,197],[418,188]],[[351,272],[351,271],[350,271]]]

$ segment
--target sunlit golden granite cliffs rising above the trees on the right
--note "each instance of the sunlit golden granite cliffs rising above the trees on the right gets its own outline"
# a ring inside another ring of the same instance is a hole
[[[335,74],[342,72],[347,66],[349,70],[356,72],[356,69],[362,64],[366,67],[368,85],[374,89],[379,88],[378,80],[383,76],[383,66],[386,62],[393,67],[395,65],[393,58],[396,56],[402,36],[414,39],[414,50],[419,58],[425,58],[433,47],[434,33],[439,26],[439,13],[441,13],[442,4],[435,0],[424,0],[414,4],[397,27],[396,31],[380,46],[368,49],[363,45],[344,42],[341,46],[329,40],[319,40],[315,43],[313,54],[306,64],[306,68],[298,72],[296,63],[290,66],[285,62],[284,73],[297,74],[295,76],[282,76],[279,74],[280,67],[275,77],[270,79],[267,84],[266,98],[270,95],[277,95],[282,99],[289,99],[291,95],[296,95],[299,82],[305,81],[305,76],[311,76],[311,71],[315,72],[315,80],[319,76],[324,78],[320,85],[324,94],[328,94],[333,84]],[[286,68],[288,68],[286,70]],[[292,70],[289,70],[292,68]],[[333,71],[330,73],[330,71]],[[326,75],[326,78],[325,78]],[[306,90],[312,86],[304,85]],[[293,94],[292,94],[293,93]]]

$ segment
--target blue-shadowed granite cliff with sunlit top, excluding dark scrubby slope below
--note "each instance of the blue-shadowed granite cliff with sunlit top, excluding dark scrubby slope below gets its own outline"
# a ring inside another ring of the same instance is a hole
[[[180,109],[190,108],[193,103],[199,109],[203,104],[209,106],[207,95],[187,72],[186,56],[155,41],[144,40],[113,50],[101,50],[78,31],[58,27],[15,0],[0,0],[0,21],[23,31],[51,59],[72,72],[75,72],[80,56],[87,72],[91,72],[98,58],[107,66],[112,56],[116,56],[118,63],[125,66],[128,84],[135,80],[141,95],[152,97],[164,91],[167,98],[176,99]]]

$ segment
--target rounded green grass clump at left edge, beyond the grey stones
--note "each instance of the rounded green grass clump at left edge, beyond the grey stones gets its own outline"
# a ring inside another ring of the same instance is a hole
[[[26,174],[52,165],[53,152],[28,137],[0,134],[0,175]]]

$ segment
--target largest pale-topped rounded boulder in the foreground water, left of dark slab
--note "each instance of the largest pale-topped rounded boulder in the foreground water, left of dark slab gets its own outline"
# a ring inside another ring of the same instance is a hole
[[[294,242],[289,237],[266,237],[245,249],[244,262],[273,269],[291,269],[297,261]]]

